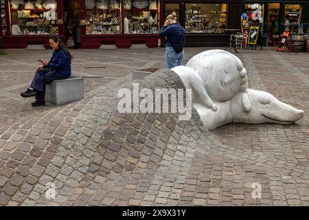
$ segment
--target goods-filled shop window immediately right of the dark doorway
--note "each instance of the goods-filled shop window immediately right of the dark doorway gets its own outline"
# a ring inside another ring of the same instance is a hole
[[[121,34],[119,0],[85,0],[86,34]]]

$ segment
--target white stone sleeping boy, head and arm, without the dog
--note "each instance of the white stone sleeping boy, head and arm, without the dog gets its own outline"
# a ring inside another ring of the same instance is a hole
[[[250,111],[247,96],[247,70],[240,59],[224,50],[208,50],[192,57],[186,66],[172,69],[181,77],[185,87],[192,89],[192,104],[203,104],[216,111],[213,100],[225,102],[242,93],[242,107]]]

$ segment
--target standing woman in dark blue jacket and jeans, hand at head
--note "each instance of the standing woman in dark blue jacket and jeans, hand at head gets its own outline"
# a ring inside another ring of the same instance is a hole
[[[165,37],[165,67],[168,69],[183,65],[185,32],[185,28],[176,21],[176,12],[166,17],[160,36]]]

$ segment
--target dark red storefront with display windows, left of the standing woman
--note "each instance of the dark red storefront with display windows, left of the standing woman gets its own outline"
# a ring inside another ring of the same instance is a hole
[[[5,48],[47,48],[50,34],[69,47],[157,47],[161,10],[161,0],[0,0],[0,36]]]

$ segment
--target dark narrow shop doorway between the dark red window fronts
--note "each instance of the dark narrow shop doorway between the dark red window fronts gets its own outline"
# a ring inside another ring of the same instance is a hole
[[[67,47],[80,47],[80,4],[78,0],[65,0],[65,43]]]

